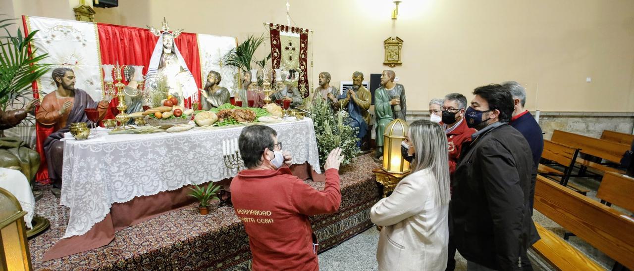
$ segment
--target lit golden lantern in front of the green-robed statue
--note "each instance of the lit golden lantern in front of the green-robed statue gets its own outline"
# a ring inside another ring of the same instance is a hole
[[[383,134],[383,170],[388,173],[410,172],[410,163],[401,155],[401,142],[405,139],[410,125],[397,118],[392,120]]]

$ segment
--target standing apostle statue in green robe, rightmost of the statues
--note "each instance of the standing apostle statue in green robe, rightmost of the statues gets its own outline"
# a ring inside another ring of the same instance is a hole
[[[381,86],[374,92],[374,112],[376,115],[377,151],[375,158],[383,157],[383,133],[385,126],[395,118],[405,120],[407,106],[405,103],[405,87],[394,83],[396,73],[384,70],[381,74]]]

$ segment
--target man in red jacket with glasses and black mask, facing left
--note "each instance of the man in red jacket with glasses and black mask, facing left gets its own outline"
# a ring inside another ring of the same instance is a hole
[[[471,141],[471,135],[475,132],[475,129],[469,128],[464,120],[465,110],[467,110],[467,98],[464,95],[460,93],[447,94],[447,96],[444,96],[444,103],[440,109],[443,112],[443,128],[449,143],[449,173],[453,183],[453,172],[455,172],[456,163],[458,163],[458,158],[460,158],[462,144]],[[453,195],[453,191],[451,194]],[[451,231],[450,223],[449,251],[447,254],[449,258],[445,269],[448,271],[453,271],[456,267],[456,260],[454,260],[456,246],[451,237]]]

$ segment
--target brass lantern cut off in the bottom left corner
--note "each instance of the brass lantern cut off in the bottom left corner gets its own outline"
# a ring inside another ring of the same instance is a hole
[[[0,270],[32,270],[22,206],[0,188]]]

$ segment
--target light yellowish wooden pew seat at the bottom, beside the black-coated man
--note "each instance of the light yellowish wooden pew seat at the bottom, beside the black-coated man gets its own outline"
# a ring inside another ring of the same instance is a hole
[[[541,239],[533,249],[557,270],[605,270],[550,230],[537,223],[535,227]]]

